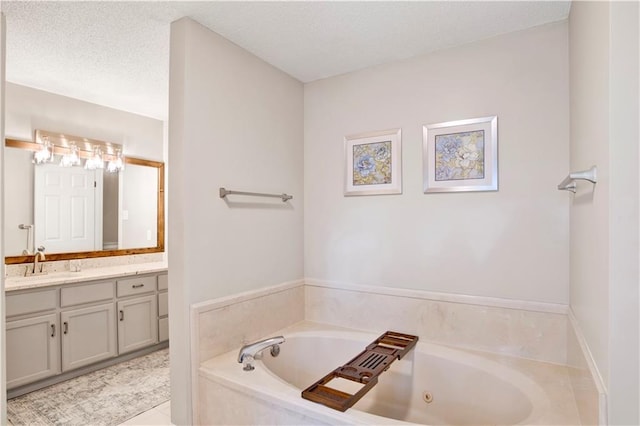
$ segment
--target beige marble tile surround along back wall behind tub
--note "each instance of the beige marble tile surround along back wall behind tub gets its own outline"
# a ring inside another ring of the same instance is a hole
[[[396,295],[388,288],[367,290],[307,284],[305,319],[370,331],[392,329],[452,346],[566,363],[567,316],[556,313],[556,306],[544,312],[541,304],[519,301],[514,301],[518,308],[506,308],[507,301],[486,306],[469,303],[468,296],[433,300],[427,292],[405,296],[402,290]]]

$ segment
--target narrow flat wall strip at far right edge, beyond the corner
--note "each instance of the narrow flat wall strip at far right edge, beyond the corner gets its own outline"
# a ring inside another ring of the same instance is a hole
[[[640,7],[610,4],[609,423],[640,424]]]

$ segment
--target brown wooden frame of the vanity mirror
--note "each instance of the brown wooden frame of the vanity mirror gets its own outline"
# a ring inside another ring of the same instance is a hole
[[[21,141],[17,139],[5,139],[5,147],[20,148],[29,151],[37,151],[40,144],[30,141]],[[158,169],[158,241],[155,247],[120,249],[120,250],[98,250],[98,251],[80,251],[70,253],[47,253],[47,262],[57,260],[71,259],[91,259],[96,257],[108,256],[128,256],[132,254],[147,254],[164,252],[164,163],[161,161],[144,160],[136,157],[124,157],[125,164],[154,167]],[[4,231],[3,231],[4,232]],[[15,265],[19,263],[31,263],[33,255],[6,256],[4,263],[6,265]]]

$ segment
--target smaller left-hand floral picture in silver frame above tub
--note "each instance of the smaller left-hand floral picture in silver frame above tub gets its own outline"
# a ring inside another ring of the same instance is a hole
[[[344,195],[402,194],[402,131],[345,136]]]

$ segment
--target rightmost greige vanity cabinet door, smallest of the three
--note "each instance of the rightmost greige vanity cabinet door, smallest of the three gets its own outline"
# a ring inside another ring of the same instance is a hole
[[[118,352],[125,353],[158,343],[156,295],[118,302]]]

